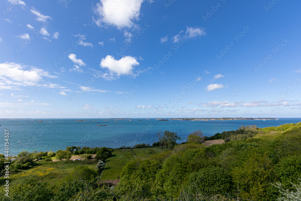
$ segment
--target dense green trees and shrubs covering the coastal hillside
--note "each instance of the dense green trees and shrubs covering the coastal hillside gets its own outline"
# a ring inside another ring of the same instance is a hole
[[[173,141],[176,140],[176,133],[170,133],[172,132],[167,133],[167,136],[172,136],[170,139]],[[162,133],[158,136],[164,137]],[[123,168],[116,187],[100,183],[99,178],[104,169],[104,163],[99,160],[101,157],[104,162],[110,159],[112,150],[92,148],[95,149],[93,153],[97,153],[97,158],[99,157],[94,162],[95,168],[78,166],[55,185],[35,179],[24,180],[10,188],[10,197],[3,196],[2,193],[0,199],[18,201],[301,199],[301,183],[298,179],[301,178],[301,122],[267,128],[241,126],[236,131],[225,131],[209,137],[224,139],[225,143],[207,147],[199,141],[195,143],[194,138],[192,137],[191,141],[188,138],[188,141],[181,145],[168,144],[168,140],[165,142],[162,140],[159,146],[166,151],[147,159],[136,158],[129,161]],[[77,151],[80,150],[82,149]],[[66,151],[71,153],[72,147]],[[21,153],[12,168],[25,169],[34,166],[32,157],[36,153]],[[92,154],[90,151],[85,153]],[[46,157],[45,153],[41,154],[42,157]],[[0,159],[1,162],[4,161],[4,158]],[[3,167],[0,168],[3,173]],[[14,169],[11,174],[14,174],[13,171]]]

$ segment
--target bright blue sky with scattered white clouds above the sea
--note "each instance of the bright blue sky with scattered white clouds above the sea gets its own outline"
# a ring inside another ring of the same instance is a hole
[[[1,118],[300,117],[301,2],[0,2]]]

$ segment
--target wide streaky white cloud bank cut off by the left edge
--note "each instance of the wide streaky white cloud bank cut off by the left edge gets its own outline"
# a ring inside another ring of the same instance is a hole
[[[42,81],[43,77],[56,78],[56,76],[52,76],[48,71],[40,68],[28,67],[13,62],[0,63],[0,89],[33,86]]]

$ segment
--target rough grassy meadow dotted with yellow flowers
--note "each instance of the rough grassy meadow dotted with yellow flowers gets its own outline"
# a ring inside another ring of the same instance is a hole
[[[24,179],[41,179],[49,184],[55,184],[63,179],[69,172],[79,165],[87,165],[95,168],[93,161],[58,161],[58,162],[37,162],[37,165],[27,170],[21,170],[9,175],[10,186],[19,184]],[[2,185],[0,182],[0,185]],[[4,183],[3,183],[4,184]]]

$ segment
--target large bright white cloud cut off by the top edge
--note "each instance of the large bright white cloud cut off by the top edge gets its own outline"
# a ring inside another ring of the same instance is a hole
[[[93,17],[97,26],[115,26],[118,29],[135,26],[134,20],[139,19],[141,4],[144,0],[123,0],[120,4],[116,0],[100,0],[96,5],[95,13],[98,19]],[[116,8],[113,5],[116,5]]]

